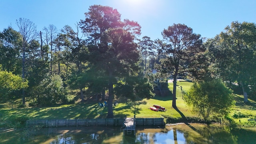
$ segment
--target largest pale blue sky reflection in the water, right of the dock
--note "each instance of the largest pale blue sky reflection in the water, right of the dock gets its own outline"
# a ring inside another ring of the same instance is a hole
[[[186,144],[186,139],[183,136],[183,133],[177,132],[177,143]],[[167,133],[156,133],[156,142],[155,144],[174,144],[173,130],[170,130]]]

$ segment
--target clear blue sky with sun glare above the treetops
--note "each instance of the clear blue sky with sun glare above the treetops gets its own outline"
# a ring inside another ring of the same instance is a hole
[[[75,28],[91,5],[110,6],[121,18],[137,21],[142,36],[162,39],[161,32],[172,24],[186,24],[196,34],[213,38],[232,21],[256,22],[256,0],[0,0],[0,31],[18,18],[34,22],[40,31],[49,24],[58,30]]]

